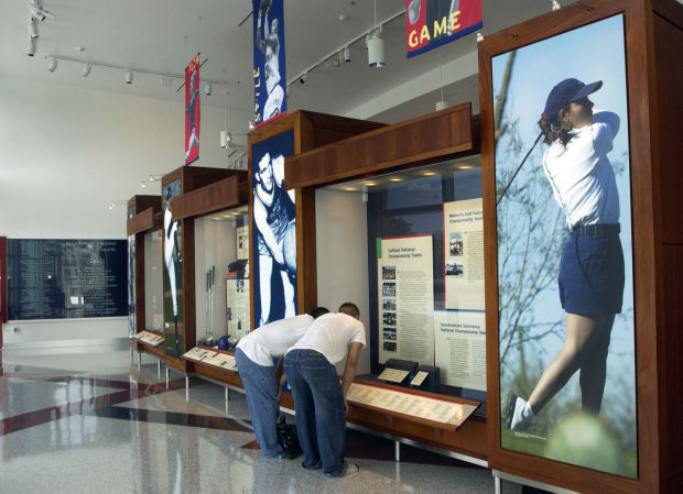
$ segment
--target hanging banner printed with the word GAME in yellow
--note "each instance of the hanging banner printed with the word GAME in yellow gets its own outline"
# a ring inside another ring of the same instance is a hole
[[[408,57],[481,29],[481,0],[405,0]]]

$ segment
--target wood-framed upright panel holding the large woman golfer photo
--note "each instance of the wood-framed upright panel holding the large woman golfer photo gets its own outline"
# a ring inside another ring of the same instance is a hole
[[[672,117],[654,81],[680,83],[660,45],[680,39],[681,10],[586,1],[479,44],[494,470],[579,492],[679,491],[677,446],[660,436],[681,416],[660,394],[676,365],[664,348],[680,349],[661,323],[677,318],[663,275],[680,266],[658,245],[673,182],[658,182],[671,165],[655,156],[672,144],[653,122]]]

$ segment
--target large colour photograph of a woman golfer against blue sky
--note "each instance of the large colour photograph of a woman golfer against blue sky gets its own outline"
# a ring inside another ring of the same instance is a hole
[[[501,448],[636,477],[624,18],[491,65]]]

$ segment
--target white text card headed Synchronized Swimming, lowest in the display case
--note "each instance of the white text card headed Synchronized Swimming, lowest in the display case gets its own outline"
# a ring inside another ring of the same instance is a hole
[[[435,311],[434,343],[443,384],[486,391],[484,312]]]

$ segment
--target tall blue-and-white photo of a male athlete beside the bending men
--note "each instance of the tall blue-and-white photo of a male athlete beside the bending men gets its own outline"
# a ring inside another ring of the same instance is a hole
[[[296,220],[294,190],[284,188],[284,158],[294,154],[294,131],[251,147],[256,327],[296,314]]]

